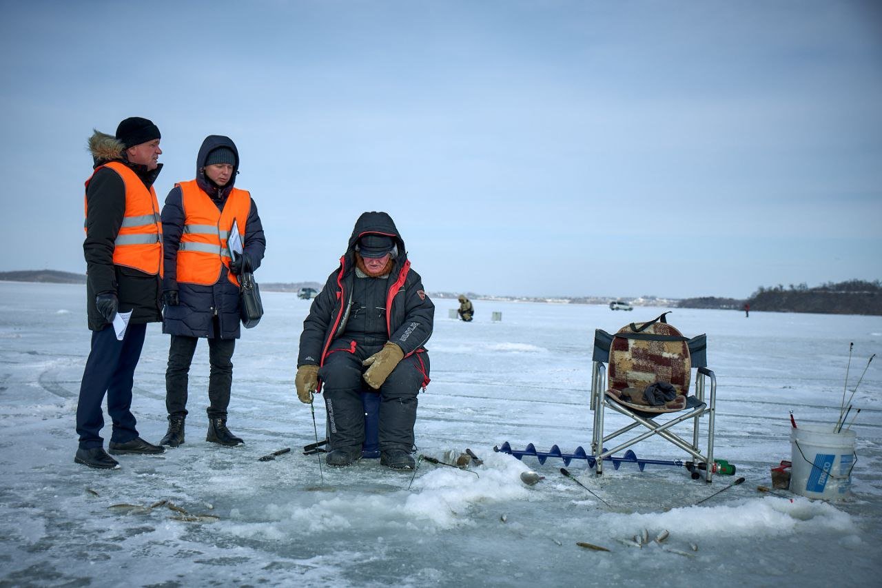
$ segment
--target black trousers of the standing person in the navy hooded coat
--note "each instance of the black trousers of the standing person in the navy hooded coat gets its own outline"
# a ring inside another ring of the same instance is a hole
[[[187,416],[187,384],[198,337],[171,335],[166,369],[166,410],[176,417]],[[208,339],[208,418],[227,418],[230,389],[233,388],[235,339]]]

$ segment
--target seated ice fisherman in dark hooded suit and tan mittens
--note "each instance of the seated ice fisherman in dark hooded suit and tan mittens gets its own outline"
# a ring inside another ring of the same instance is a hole
[[[340,267],[303,321],[295,386],[303,403],[325,393],[329,465],[362,456],[364,384],[381,395],[380,464],[415,467],[416,395],[429,384],[435,305],[410,268],[404,240],[392,217],[366,212],[355,222]]]

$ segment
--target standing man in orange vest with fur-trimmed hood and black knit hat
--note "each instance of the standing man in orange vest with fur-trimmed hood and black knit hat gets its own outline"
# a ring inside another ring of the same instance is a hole
[[[161,320],[162,225],[153,191],[162,168],[160,138],[151,121],[131,117],[119,124],[115,136],[95,131],[89,139],[94,170],[86,180],[83,253],[92,348],[79,388],[74,461],[93,468],[119,467],[104,451],[99,434],[105,394],[113,421],[110,453],[165,451],[138,436],[131,414],[133,374],[146,323]]]

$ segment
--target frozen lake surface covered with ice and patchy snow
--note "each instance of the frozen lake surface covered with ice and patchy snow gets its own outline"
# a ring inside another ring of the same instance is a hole
[[[882,359],[853,400],[862,411],[848,500],[757,490],[790,459],[789,411],[832,429],[848,343],[850,395],[867,359],[882,354],[882,317],[674,309],[669,321],[684,335],[707,334],[719,383],[714,453],[746,481],[695,506],[732,479],[707,485],[683,468],[630,464],[597,478],[572,462],[609,509],[561,476],[560,460],[520,462],[493,447],[590,449],[594,328],[614,332],[669,309],[477,300],[475,321],[463,323],[448,318],[455,300],[436,300],[416,442],[439,459],[469,448],[484,464],[470,473],[423,462],[408,490],[411,473],[378,460],[323,466],[322,481],[316,456],[302,455],[315,434],[293,381],[309,303],[277,292],[264,293],[265,318],[243,331],[233,358],[228,424],[244,446],[204,441],[200,343],[182,447],[121,456],[117,471],[74,464],[85,296],[83,286],[0,283],[0,585],[878,586],[882,577]],[[490,320],[494,311],[502,321]],[[167,425],[167,358],[168,336],[153,324],[132,409],[153,442]],[[324,437],[321,400],[317,414]],[[625,424],[607,420],[609,430]],[[635,451],[687,458],[663,441]],[[525,486],[519,474],[530,469],[545,479]],[[667,550],[621,542],[644,530],[669,531]]]

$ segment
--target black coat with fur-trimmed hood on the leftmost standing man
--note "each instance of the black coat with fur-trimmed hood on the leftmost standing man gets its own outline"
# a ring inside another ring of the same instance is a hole
[[[123,162],[133,170],[149,189],[159,176],[162,164],[155,170],[126,161],[123,144],[111,135],[95,131],[89,139],[89,151],[97,168],[108,162]],[[113,262],[114,242],[125,214],[125,184],[116,171],[101,168],[94,173],[86,188],[86,310],[89,328],[99,331],[108,324],[98,312],[95,296],[116,294],[119,312],[131,311],[131,324],[157,322],[161,315],[161,279],[134,268],[116,266]]]

